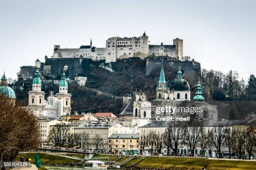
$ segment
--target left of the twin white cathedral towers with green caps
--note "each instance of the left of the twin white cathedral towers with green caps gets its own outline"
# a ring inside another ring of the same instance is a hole
[[[34,113],[39,116],[43,115],[44,111],[44,91],[41,91],[41,79],[38,69],[36,69],[36,76],[33,79],[32,91],[28,92],[28,106],[34,110]]]

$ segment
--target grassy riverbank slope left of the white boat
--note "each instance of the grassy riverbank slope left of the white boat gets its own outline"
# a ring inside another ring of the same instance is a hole
[[[16,160],[20,160],[20,157],[29,157],[32,158],[32,162],[34,162],[35,153],[26,153],[26,154],[18,154]],[[57,155],[49,155],[45,153],[39,153],[39,157],[43,163],[73,163],[77,162],[77,160],[73,160],[67,157],[57,156]]]

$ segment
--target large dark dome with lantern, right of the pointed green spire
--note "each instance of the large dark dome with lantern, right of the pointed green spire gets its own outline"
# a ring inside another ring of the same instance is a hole
[[[190,87],[188,82],[182,78],[182,71],[177,72],[177,78],[171,82],[170,89],[174,89],[174,91],[190,91]]]

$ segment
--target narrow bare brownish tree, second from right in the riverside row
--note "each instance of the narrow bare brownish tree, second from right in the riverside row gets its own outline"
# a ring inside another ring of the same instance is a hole
[[[236,128],[234,129],[234,136],[235,136],[235,143],[234,143],[234,149],[239,152],[239,159],[241,159],[242,156],[242,147],[243,143],[245,142],[245,128]]]

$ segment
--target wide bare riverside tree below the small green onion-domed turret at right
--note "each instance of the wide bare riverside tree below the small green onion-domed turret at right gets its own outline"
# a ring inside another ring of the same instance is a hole
[[[202,127],[195,120],[182,128],[182,144],[189,146],[192,155],[194,155],[195,147],[198,144],[201,129]]]

